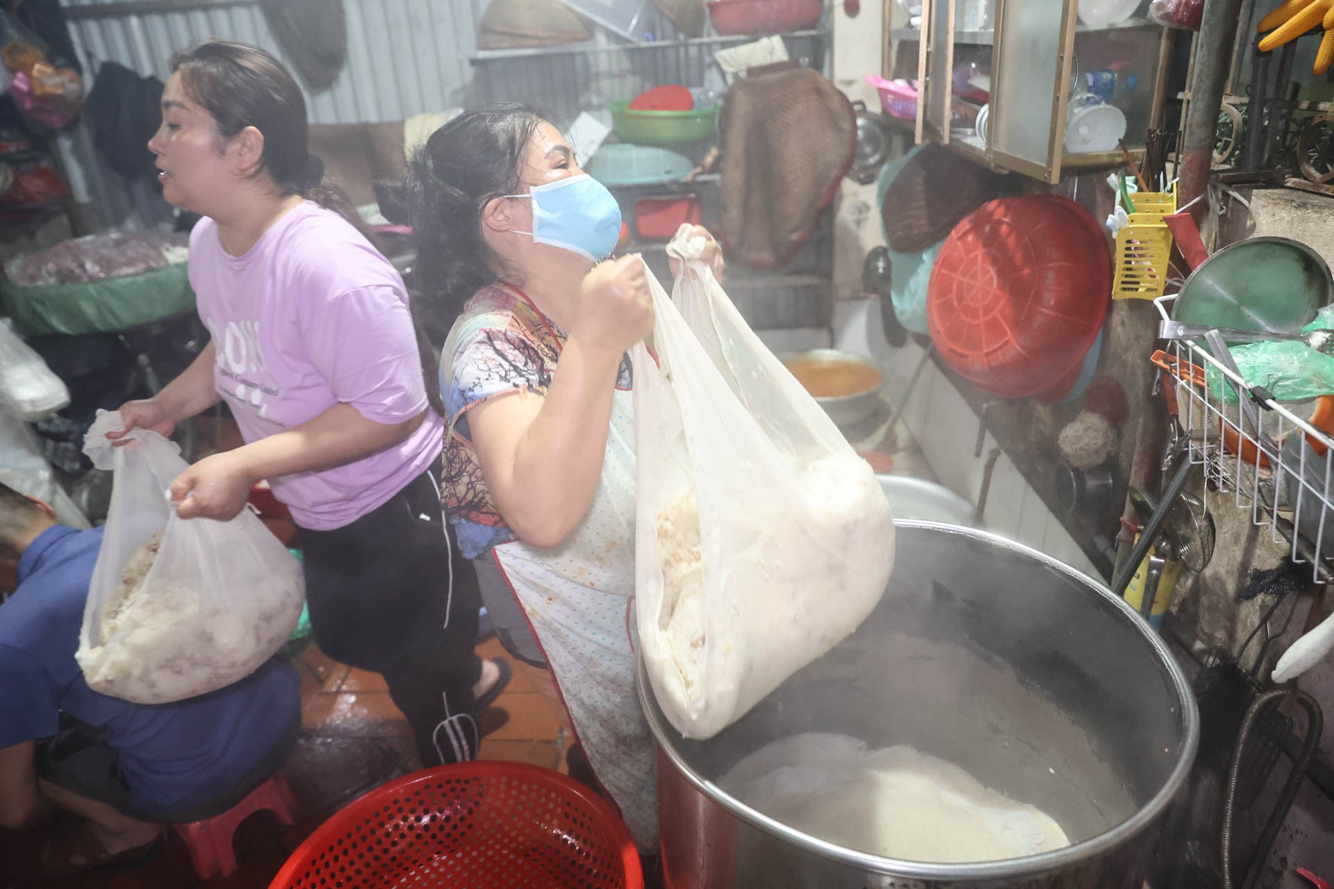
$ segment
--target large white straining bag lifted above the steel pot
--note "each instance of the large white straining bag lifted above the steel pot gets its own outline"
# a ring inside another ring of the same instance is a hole
[[[650,273],[656,361],[631,351],[635,606],[648,677],[686,737],[740,718],[871,613],[894,520],[870,465],[698,260]]]

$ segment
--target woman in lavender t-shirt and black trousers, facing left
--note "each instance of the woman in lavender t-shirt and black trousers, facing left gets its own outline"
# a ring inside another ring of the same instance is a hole
[[[204,217],[189,283],[212,341],[157,396],[123,405],[125,425],[169,435],[227,401],[245,444],[175,480],[177,514],[231,518],[267,478],[301,528],[320,648],[384,676],[423,762],[471,760],[475,714],[504,677],[472,650],[476,576],[440,512],[442,421],[403,280],[323,181],[277,60],[209,41],[171,67],[148,148],[163,196]]]

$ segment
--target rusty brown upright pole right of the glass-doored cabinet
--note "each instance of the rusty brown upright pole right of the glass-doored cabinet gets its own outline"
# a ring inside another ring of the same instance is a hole
[[[1209,187],[1209,169],[1214,157],[1214,133],[1218,112],[1223,107],[1223,87],[1231,67],[1233,44],[1242,0],[1205,0],[1203,24],[1195,37],[1195,71],[1186,108],[1185,145],[1181,152],[1181,181],[1177,185],[1179,205],[1187,204]],[[1197,221],[1207,201],[1194,208]]]

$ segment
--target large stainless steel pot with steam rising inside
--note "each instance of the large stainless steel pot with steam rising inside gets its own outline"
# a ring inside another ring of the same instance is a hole
[[[1162,640],[1102,584],[1003,537],[898,524],[884,598],[842,645],[708,741],[640,698],[659,745],[672,889],[1139,889],[1199,740]],[[1057,818],[1074,845],[942,865],[862,854],[796,832],[714,784],[779,737],[910,744]]]

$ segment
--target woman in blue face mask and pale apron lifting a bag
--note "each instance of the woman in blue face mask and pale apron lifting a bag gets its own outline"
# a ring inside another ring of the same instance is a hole
[[[599,264],[620,233],[616,200],[555,127],[518,104],[442,127],[402,192],[382,200],[399,203],[416,233],[419,324],[436,339],[448,329],[443,497],[463,553],[502,642],[550,668],[596,782],[652,850],[652,741],[630,614],[626,351],[654,328],[643,261]],[[716,243],[698,233],[722,273]]]

